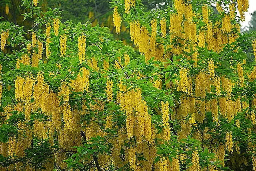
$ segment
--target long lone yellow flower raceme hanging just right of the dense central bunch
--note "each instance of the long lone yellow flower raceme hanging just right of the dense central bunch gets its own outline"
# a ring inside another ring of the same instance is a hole
[[[171,130],[170,130],[170,123],[169,123],[169,103],[168,101],[166,101],[166,103],[164,103],[163,101],[161,101],[161,105],[162,105],[162,119],[163,119],[163,139],[165,141],[169,141],[171,139],[170,135],[171,135]]]

